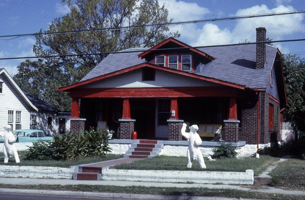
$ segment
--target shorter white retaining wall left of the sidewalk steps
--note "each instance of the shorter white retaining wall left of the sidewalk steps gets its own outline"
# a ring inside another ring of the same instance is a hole
[[[0,177],[72,179],[73,173],[77,171],[78,166],[63,168],[45,166],[0,165]]]

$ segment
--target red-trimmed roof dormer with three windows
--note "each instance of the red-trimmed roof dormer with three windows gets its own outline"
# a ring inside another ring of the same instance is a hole
[[[194,71],[196,59],[208,63],[214,58],[174,38],[168,38],[138,55],[147,62],[185,72]],[[197,62],[196,62],[197,63]]]

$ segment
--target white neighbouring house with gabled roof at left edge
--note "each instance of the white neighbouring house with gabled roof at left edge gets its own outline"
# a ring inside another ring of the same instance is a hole
[[[12,130],[29,129],[31,111],[38,111],[5,69],[0,68],[0,131],[10,124]]]

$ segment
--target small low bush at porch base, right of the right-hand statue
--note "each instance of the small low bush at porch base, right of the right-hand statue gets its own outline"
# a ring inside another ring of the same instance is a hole
[[[235,158],[238,153],[235,150],[238,150],[239,148],[232,147],[232,143],[218,143],[220,144],[220,147],[214,147],[212,148],[213,158]]]

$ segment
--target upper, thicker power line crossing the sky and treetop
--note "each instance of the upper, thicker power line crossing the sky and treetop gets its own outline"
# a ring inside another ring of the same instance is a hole
[[[245,16],[237,16],[237,17],[202,19],[202,20],[192,20],[192,21],[183,21],[183,22],[168,22],[168,23],[161,23],[161,24],[148,24],[148,25],[139,25],[139,26],[126,26],[126,27],[120,27],[120,28],[104,28],[104,29],[65,31],[65,32],[6,35],[6,36],[0,36],[0,38],[8,38],[8,37],[14,37],[14,38],[12,38],[12,39],[0,39],[0,40],[13,40],[13,39],[16,39],[16,38],[19,38],[19,37],[27,37],[27,36],[48,36],[48,35],[100,32],[100,31],[122,30],[122,29],[137,29],[137,28],[155,27],[155,26],[173,26],[173,25],[180,25],[180,24],[227,21],[227,20],[247,19],[247,18],[255,18],[255,17],[279,16],[279,15],[287,15],[287,14],[300,14],[300,13],[305,13],[305,10],[295,10],[295,11],[288,11],[288,12],[275,12],[275,13],[266,13],[266,14],[257,14],[257,15],[245,15]]]

